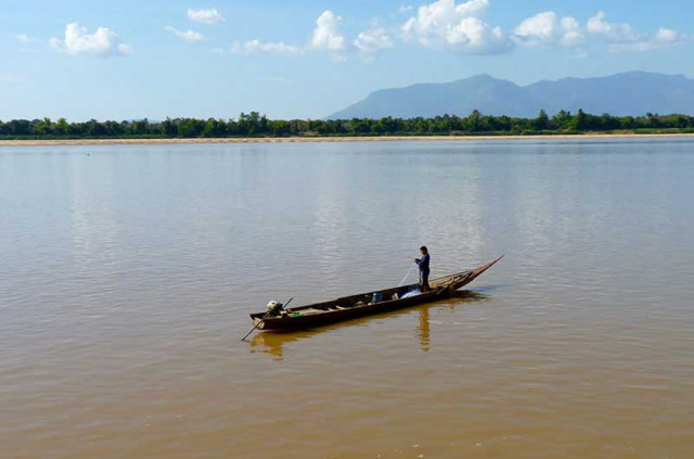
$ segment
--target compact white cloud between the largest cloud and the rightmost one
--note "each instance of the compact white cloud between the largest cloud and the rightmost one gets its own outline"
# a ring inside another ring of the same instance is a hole
[[[560,20],[553,11],[537,14],[525,20],[515,28],[513,38],[529,47],[562,46],[574,48],[583,42],[578,21],[567,16]]]

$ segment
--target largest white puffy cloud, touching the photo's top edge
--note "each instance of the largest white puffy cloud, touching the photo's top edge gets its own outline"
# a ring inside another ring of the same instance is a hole
[[[438,0],[420,7],[416,16],[402,26],[404,38],[416,39],[425,47],[447,47],[454,50],[493,54],[510,51],[513,42],[499,27],[491,27],[480,17],[489,0]]]

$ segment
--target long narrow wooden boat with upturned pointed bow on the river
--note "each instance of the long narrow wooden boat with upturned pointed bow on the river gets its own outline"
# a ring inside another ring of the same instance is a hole
[[[430,303],[451,296],[501,258],[503,255],[475,269],[434,279],[429,281],[430,291],[426,293],[417,293],[417,284],[403,285],[287,308],[271,317],[267,311],[254,313],[250,319],[258,330],[299,330]],[[381,301],[377,301],[378,298]]]

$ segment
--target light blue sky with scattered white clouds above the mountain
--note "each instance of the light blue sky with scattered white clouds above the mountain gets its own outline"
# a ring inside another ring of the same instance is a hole
[[[684,0],[0,0],[0,119],[319,118],[382,88],[694,77]]]

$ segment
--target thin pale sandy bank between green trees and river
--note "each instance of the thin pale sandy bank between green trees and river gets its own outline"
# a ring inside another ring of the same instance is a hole
[[[475,140],[578,140],[578,139],[665,139],[694,138],[694,133],[587,133],[575,136],[388,136],[388,137],[279,137],[222,139],[55,139],[0,140],[0,146],[42,145],[137,145],[189,143],[293,143],[293,142],[396,142],[396,141],[475,141]]]

